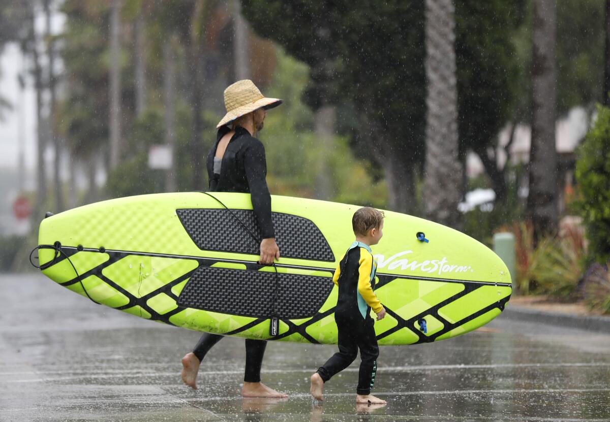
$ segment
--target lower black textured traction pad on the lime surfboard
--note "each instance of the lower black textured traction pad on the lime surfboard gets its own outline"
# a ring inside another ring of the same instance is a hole
[[[273,312],[276,284],[279,290]],[[177,303],[253,318],[269,318],[273,314],[282,319],[309,318],[324,304],[332,285],[331,277],[200,266]]]

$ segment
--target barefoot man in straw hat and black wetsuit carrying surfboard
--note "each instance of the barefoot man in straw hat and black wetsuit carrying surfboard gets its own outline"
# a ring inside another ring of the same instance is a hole
[[[262,234],[260,263],[271,264],[279,259],[271,221],[271,195],[267,187],[265,148],[254,137],[263,128],[265,110],[281,104],[278,98],[266,98],[251,80],[239,80],[224,90],[227,113],[216,126],[216,143],[207,157],[210,191],[249,193],[254,215]],[[192,352],[182,358],[182,381],[197,389],[199,365],[222,335],[204,334]],[[243,379],[244,397],[285,397],[260,382],[260,367],[267,342],[246,340],[246,368]]]

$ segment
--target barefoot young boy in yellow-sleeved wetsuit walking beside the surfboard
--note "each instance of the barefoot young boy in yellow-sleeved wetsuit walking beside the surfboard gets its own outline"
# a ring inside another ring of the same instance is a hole
[[[386,404],[386,401],[370,394],[375,382],[379,348],[373,327],[375,321],[368,315],[373,309],[378,321],[386,316],[386,309],[381,306],[373,291],[377,263],[370,248],[377,245],[383,235],[383,218],[384,215],[379,210],[364,207],[357,210],[351,220],[356,240],[345,252],[332,277],[334,284],[339,287],[335,310],[339,352],[311,376],[310,393],[317,400],[322,399],[324,383],[350,366],[360,349],[362,362],[356,403]]]

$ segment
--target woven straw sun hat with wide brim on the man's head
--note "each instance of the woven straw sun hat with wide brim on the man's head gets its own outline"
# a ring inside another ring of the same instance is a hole
[[[238,80],[235,84],[229,85],[229,87],[224,90],[224,107],[226,107],[227,113],[220,123],[216,125],[216,128],[218,129],[254,110],[273,109],[273,107],[277,107],[280,104],[282,104],[281,99],[266,98],[262,95],[259,88],[257,88],[251,80]]]

